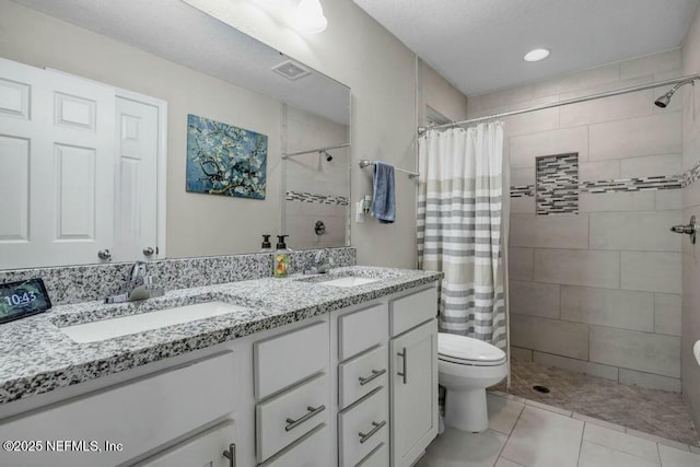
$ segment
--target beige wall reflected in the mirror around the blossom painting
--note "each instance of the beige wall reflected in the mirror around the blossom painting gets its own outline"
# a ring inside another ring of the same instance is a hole
[[[279,231],[281,164],[272,156],[280,153],[278,101],[8,0],[0,0],[0,56],[167,101],[168,257],[257,252],[261,233]],[[268,136],[265,200],[185,191],[187,114]]]

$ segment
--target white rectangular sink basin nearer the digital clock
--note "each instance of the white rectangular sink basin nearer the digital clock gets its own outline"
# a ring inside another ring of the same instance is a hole
[[[88,343],[247,310],[244,306],[223,302],[207,302],[160,310],[158,312],[140,313],[138,315],[101,319],[60,329],[73,341]]]

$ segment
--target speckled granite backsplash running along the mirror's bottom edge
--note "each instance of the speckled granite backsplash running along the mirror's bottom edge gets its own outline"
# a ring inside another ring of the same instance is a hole
[[[292,252],[290,272],[314,265],[317,249]],[[334,265],[354,266],[354,247],[326,248]],[[40,277],[54,305],[104,300],[121,293],[133,262],[0,270],[0,283]],[[272,276],[272,254],[210,256],[149,261],[147,270],[164,290],[229,283]]]

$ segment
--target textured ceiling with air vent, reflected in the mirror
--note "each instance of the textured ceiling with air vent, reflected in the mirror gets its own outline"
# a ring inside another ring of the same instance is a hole
[[[298,81],[280,77],[270,69],[288,57],[179,0],[13,1],[349,125],[347,86],[313,70]]]

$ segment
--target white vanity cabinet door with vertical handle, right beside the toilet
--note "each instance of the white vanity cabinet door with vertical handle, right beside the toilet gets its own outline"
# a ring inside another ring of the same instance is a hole
[[[438,322],[390,341],[392,465],[410,466],[438,434]]]

